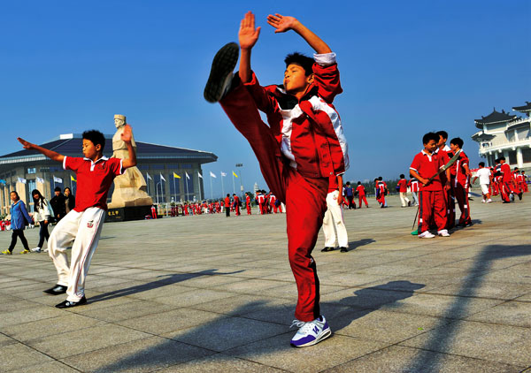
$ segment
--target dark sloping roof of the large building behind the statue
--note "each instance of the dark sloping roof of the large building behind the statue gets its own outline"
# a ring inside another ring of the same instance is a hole
[[[112,155],[112,134],[105,134],[104,155]],[[213,153],[193,150],[188,148],[177,148],[167,145],[151,144],[149,142],[135,141],[136,157],[139,160],[161,159],[195,161],[200,164],[208,164],[218,159]],[[41,144],[42,148],[48,148],[64,156],[82,156],[81,154],[82,136],[81,133],[66,133]],[[0,164],[16,164],[19,162],[31,162],[47,159],[36,150],[23,149],[14,153],[0,156]]]

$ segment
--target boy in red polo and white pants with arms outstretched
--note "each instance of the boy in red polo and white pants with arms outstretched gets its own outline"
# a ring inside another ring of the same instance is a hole
[[[83,133],[82,158],[62,156],[18,138],[24,148],[37,150],[51,160],[61,162],[65,170],[76,172],[75,207],[59,221],[48,242],[49,255],[58,271],[58,283],[44,293],[67,295],[66,301],[56,305],[57,308],[71,308],[87,303],[85,278],[104,226],[109,188],[116,176],[136,165],[131,138],[131,127],[126,125],[121,140],[127,144],[128,159],[104,156],[104,134],[95,130]],[[72,242],[69,266],[66,247]]]

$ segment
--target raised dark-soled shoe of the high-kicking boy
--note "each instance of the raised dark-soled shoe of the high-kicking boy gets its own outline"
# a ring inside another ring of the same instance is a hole
[[[217,103],[223,97],[230,84],[238,62],[240,47],[235,42],[229,42],[218,50],[212,60],[210,76],[204,86],[204,99],[209,103]]]

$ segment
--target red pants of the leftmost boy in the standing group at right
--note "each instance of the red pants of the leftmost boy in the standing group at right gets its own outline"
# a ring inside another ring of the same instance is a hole
[[[419,192],[419,234],[429,230],[432,217],[437,231],[446,228],[446,202],[443,190]]]

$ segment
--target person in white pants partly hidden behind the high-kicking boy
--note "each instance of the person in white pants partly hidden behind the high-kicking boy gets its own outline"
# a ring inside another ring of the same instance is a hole
[[[342,175],[331,176],[328,181],[327,211],[323,219],[323,232],[325,232],[325,248],[322,252],[333,251],[335,247],[335,231],[337,244],[340,251],[346,253],[349,247],[349,236],[342,217]]]

